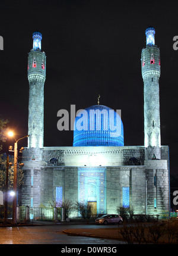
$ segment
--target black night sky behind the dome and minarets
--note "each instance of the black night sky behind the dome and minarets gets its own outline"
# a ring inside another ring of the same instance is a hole
[[[144,145],[141,51],[145,29],[153,26],[161,53],[161,145],[170,146],[170,174],[178,180],[177,7],[165,1],[120,2],[1,1],[1,117],[17,138],[28,134],[27,58],[37,30],[47,56],[44,146],[72,146],[73,132],[57,129],[57,112],[70,113],[71,104],[76,111],[96,105],[98,94],[101,105],[122,111],[125,145]]]

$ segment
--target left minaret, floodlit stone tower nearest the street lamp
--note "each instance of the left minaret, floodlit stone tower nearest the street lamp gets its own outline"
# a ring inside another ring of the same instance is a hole
[[[35,152],[34,158],[40,160],[37,149],[43,148],[44,84],[46,79],[46,55],[41,51],[42,34],[33,33],[33,49],[28,54],[28,151]]]

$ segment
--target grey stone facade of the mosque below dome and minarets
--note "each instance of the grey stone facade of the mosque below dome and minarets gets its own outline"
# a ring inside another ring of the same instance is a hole
[[[123,205],[123,188],[128,187],[129,205],[135,209],[135,213],[161,214],[163,211],[169,211],[167,146],[162,147],[161,152],[165,159],[145,160],[143,146],[49,147],[43,149],[43,159],[38,161],[32,160],[26,148],[23,157],[28,161],[24,161],[26,180],[21,201],[25,205],[31,205],[33,198],[33,207],[39,207],[40,204],[49,205],[56,202],[56,187],[61,187],[62,200],[71,199],[76,202],[80,199],[80,170],[85,176],[82,182],[85,183],[85,188],[88,188],[88,173],[93,177],[94,183],[99,179],[94,171],[97,173],[102,169],[104,209],[102,208],[101,212],[101,207],[97,208],[97,213],[114,213],[116,207]],[[58,161],[50,163],[52,158]],[[138,161],[134,163],[131,158]],[[97,189],[96,202],[99,204],[100,188]],[[86,196],[84,200],[87,202]]]

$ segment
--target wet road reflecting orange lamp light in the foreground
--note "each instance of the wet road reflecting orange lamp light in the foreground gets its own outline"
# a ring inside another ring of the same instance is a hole
[[[68,236],[62,232],[65,229],[105,228],[106,226],[87,224],[56,224],[55,226],[23,226],[0,227],[1,244],[118,244],[113,239],[88,238]],[[110,226],[107,226],[108,228]]]

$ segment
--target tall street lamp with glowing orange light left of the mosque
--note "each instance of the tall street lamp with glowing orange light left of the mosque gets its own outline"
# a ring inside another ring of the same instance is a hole
[[[14,133],[13,132],[8,132],[8,135],[10,137],[14,138]],[[30,135],[24,136],[24,139],[29,137]],[[15,139],[15,138],[14,138]],[[12,207],[12,223],[17,224],[17,164],[18,164],[18,152],[17,152],[17,142],[20,141],[20,139],[16,140],[14,142],[14,185],[13,185],[13,191],[14,191],[14,198],[13,198],[13,207]],[[10,146],[11,147],[11,146]],[[9,148],[10,148],[9,147]],[[12,149],[12,148],[10,148]],[[10,150],[12,151],[12,150]]]

